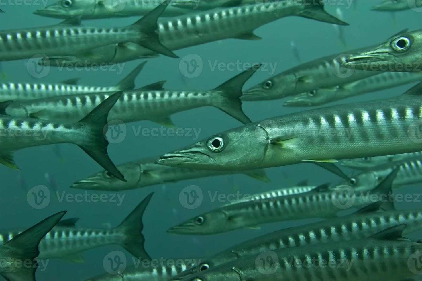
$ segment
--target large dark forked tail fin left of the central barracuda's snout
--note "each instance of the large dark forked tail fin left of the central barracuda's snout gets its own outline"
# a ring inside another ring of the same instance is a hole
[[[87,116],[80,120],[80,123],[87,124],[91,130],[91,138],[85,139],[83,143],[77,143],[89,156],[92,157],[104,169],[110,172],[119,180],[126,181],[121,172],[116,168],[107,154],[108,141],[106,132],[108,130],[107,117],[108,112],[114,106],[116,101],[122,96],[123,92],[117,92],[109,96],[105,101],[99,104]]]

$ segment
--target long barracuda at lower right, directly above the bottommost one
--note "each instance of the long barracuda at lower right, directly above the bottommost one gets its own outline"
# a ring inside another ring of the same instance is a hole
[[[180,280],[189,274],[208,270],[225,262],[262,251],[358,240],[398,224],[407,224],[406,233],[422,229],[422,210],[377,212],[381,204],[381,202],[375,202],[348,216],[281,229],[247,240],[203,260],[197,267],[187,269],[172,280]]]

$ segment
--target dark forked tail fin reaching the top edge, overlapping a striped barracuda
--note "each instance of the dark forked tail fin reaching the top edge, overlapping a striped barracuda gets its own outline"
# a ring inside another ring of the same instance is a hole
[[[163,3],[160,3],[157,8],[154,8],[154,10],[143,16],[140,20],[131,25],[131,27],[135,27],[142,34],[141,40],[135,43],[138,43],[141,46],[150,49],[151,51],[168,57],[178,57],[167,47],[161,44],[158,33],[156,32],[158,29],[157,19],[161,16],[162,12],[167,7],[168,2],[170,1],[164,1]]]

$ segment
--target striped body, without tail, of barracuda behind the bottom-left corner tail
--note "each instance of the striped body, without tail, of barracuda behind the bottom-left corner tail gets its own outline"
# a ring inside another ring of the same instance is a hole
[[[0,232],[0,244],[11,240],[22,231]],[[55,226],[41,240],[38,259],[80,258],[83,251],[124,241],[124,232],[116,229],[92,229]]]

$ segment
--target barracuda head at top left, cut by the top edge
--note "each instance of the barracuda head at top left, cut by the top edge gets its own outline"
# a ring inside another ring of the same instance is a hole
[[[94,14],[95,0],[60,0],[38,9],[34,14],[57,19],[68,19],[74,16],[89,16]]]

